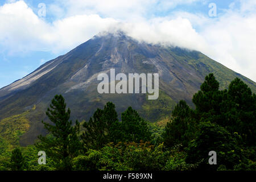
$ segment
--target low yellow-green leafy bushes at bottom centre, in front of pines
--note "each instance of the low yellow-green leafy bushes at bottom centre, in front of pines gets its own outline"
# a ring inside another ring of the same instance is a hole
[[[100,150],[88,150],[73,160],[76,170],[162,170],[170,156],[163,144],[150,142],[109,143]]]

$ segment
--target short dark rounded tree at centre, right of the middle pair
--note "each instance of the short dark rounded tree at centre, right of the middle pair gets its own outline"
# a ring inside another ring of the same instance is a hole
[[[122,113],[122,139],[121,142],[137,142],[141,140],[150,141],[151,133],[148,123],[139,116],[136,110],[131,107]]]

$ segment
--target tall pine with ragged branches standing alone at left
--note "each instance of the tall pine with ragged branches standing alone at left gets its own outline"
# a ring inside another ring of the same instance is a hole
[[[79,132],[79,122],[76,121],[72,126],[69,121],[71,110],[66,111],[66,104],[63,96],[56,95],[50,107],[46,111],[46,115],[53,123],[43,122],[45,129],[49,132],[49,136],[40,135],[39,142],[36,147],[45,151],[55,163],[56,169],[71,170],[71,160],[78,155],[81,143],[77,133]]]

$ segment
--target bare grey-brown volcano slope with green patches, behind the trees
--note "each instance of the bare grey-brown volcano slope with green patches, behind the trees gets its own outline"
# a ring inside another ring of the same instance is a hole
[[[159,73],[159,98],[147,100],[147,94],[99,94],[99,73]],[[94,36],[84,44],[56,59],[48,61],[30,75],[0,89],[0,119],[30,110],[26,115],[30,129],[20,144],[34,142],[44,133],[40,123],[55,94],[63,94],[71,108],[72,119],[88,120],[97,107],[112,101],[121,113],[132,106],[151,122],[170,115],[179,100],[193,106],[191,98],[199,90],[204,77],[214,73],[221,89],[240,77],[256,91],[255,82],[233,72],[197,51],[162,47],[119,33]],[[35,110],[31,110],[36,105]]]

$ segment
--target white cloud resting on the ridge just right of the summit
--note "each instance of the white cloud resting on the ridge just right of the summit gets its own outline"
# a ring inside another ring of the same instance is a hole
[[[121,26],[127,35],[147,43],[171,44],[197,50],[207,46],[191,22],[185,18],[155,18],[138,23],[124,23]]]

